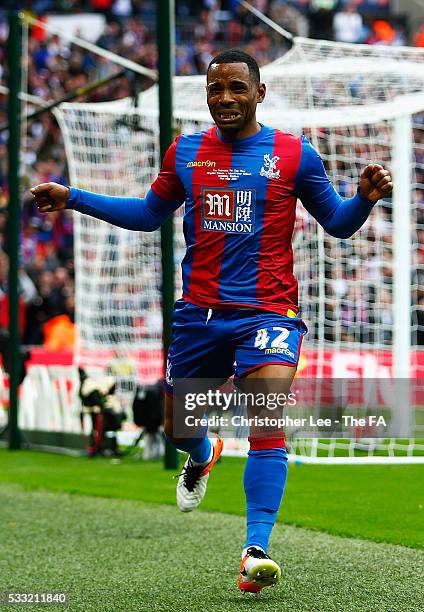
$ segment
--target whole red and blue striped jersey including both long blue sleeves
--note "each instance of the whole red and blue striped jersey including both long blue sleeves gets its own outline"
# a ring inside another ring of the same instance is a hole
[[[374,203],[344,200],[302,136],[266,126],[226,141],[211,128],[168,149],[145,198],[71,187],[68,208],[132,230],[153,231],[185,202],[183,296],[206,308],[297,312],[291,239],[296,198],[333,236],[348,238]]]

